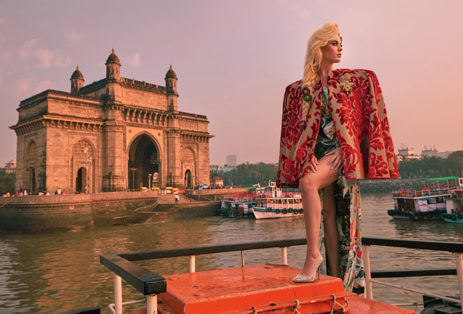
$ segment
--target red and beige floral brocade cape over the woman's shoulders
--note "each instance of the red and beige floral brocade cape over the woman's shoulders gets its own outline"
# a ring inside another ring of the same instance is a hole
[[[352,83],[349,84],[351,90],[342,86],[346,83]],[[308,90],[303,90],[302,81],[286,88],[276,178],[279,187],[299,187],[299,179],[309,171],[320,130],[321,91],[321,82],[314,86],[311,97],[307,97]],[[330,71],[328,97],[346,179],[398,177],[389,121],[375,72],[361,69]],[[307,117],[302,116],[304,105],[309,107]],[[305,127],[302,121],[307,121]]]

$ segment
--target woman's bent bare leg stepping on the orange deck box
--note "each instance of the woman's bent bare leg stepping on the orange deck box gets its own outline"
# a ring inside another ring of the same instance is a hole
[[[337,179],[339,170],[328,165],[331,156],[323,156],[318,161],[317,170],[307,172],[300,179],[302,205],[304,207],[304,224],[307,235],[307,254],[301,275],[311,275],[318,261],[318,233],[321,222],[321,203],[318,190],[332,184]]]

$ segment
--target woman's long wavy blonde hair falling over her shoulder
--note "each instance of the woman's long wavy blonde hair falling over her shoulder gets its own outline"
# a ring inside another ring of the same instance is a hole
[[[311,90],[316,82],[321,80],[321,59],[323,53],[321,48],[328,45],[330,41],[341,36],[340,29],[336,23],[328,22],[323,27],[311,34],[307,42],[307,53],[305,55],[303,87]]]

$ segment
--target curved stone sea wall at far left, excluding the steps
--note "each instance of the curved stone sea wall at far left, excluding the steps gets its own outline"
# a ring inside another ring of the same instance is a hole
[[[0,230],[75,231],[126,221],[156,205],[155,194],[143,192],[0,198]]]

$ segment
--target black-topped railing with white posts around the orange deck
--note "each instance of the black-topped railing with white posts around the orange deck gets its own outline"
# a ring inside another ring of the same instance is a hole
[[[365,296],[373,299],[373,283],[386,285],[422,295],[435,297],[438,299],[461,303],[461,300],[452,299],[447,296],[440,296],[424,292],[418,289],[391,285],[373,278],[406,278],[417,276],[437,276],[437,275],[457,275],[459,284],[459,295],[463,296],[463,243],[448,243],[435,241],[417,240],[395,240],[385,238],[362,238],[363,259],[365,265]],[[281,264],[288,265],[288,247],[306,245],[306,238],[293,238],[285,240],[269,240],[253,243],[236,243],[229,245],[210,245],[206,247],[184,247],[169,250],[153,250],[142,252],[128,252],[120,254],[103,254],[100,256],[100,263],[114,273],[114,303],[109,306],[114,314],[123,313],[123,305],[131,303],[146,302],[147,313],[157,313],[157,294],[166,292],[166,278],[149,271],[134,263],[134,261],[147,261],[152,259],[167,259],[173,257],[189,258],[189,273],[196,271],[196,256],[203,254],[217,254],[224,252],[241,252],[241,266],[245,266],[244,252],[248,250],[262,250],[280,247]],[[415,250],[434,250],[441,252],[452,252],[455,254],[456,268],[446,269],[422,269],[407,271],[371,271],[370,266],[370,246],[381,245],[388,247],[403,247]],[[145,296],[141,301],[122,301],[122,282],[126,281],[129,285],[137,289]]]

